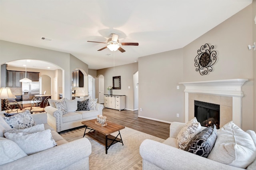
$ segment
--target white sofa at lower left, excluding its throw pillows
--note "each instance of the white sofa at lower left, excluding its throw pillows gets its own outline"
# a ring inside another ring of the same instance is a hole
[[[81,136],[81,139],[67,142],[47,124],[46,113],[31,114],[31,116],[38,126],[42,125],[45,130],[50,129],[50,134],[52,134],[57,146],[15,160],[14,157],[20,154],[11,153],[14,150],[17,151],[17,148],[14,147],[16,143],[10,140],[7,141],[7,144],[1,143],[1,164],[7,158],[12,161],[0,165],[0,170],[89,170],[89,155],[92,152],[92,146],[88,139]],[[4,117],[4,111],[0,112],[0,141],[4,142],[7,140],[3,137],[4,130],[11,128],[2,117]],[[43,145],[43,142],[36,142],[36,144],[36,147],[39,147]],[[4,146],[8,148],[4,148]],[[31,148],[31,145],[28,148]],[[10,149],[13,150],[10,151]]]

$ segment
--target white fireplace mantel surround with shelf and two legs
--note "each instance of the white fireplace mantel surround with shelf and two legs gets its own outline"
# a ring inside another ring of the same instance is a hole
[[[231,96],[232,120],[241,127],[242,123],[242,85],[248,79],[211,80],[202,82],[183,82],[185,86],[185,122],[188,122],[188,93]]]

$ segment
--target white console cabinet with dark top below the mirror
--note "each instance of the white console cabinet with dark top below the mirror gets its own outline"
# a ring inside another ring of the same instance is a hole
[[[119,111],[125,109],[125,95],[104,94],[104,106]]]

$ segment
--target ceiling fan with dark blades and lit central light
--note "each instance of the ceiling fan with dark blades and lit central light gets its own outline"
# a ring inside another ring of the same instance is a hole
[[[97,41],[87,41],[87,42],[97,42],[97,43],[103,43],[108,44],[106,47],[101,48],[98,51],[104,50],[105,48],[108,48],[110,51],[116,51],[119,50],[120,52],[125,52],[123,48],[120,46],[138,46],[138,42],[119,42],[118,37],[119,35],[112,33],[112,38],[108,39],[108,42],[97,42]]]

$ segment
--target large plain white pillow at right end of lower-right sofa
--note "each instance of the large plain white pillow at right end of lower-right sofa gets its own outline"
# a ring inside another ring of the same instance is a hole
[[[208,159],[246,168],[256,158],[256,146],[252,137],[232,121],[218,131],[218,137]]]

